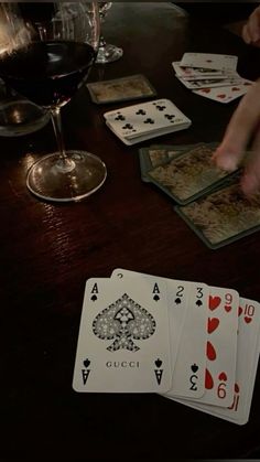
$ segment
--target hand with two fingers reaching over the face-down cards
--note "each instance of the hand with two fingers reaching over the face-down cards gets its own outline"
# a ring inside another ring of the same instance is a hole
[[[249,141],[252,141],[252,154],[241,178],[241,189],[248,196],[260,192],[260,79],[240,100],[228,123],[224,139],[213,155],[217,166],[236,170]]]

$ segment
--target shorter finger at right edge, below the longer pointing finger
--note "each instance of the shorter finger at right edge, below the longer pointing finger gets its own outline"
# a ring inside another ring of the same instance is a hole
[[[260,191],[260,127],[254,135],[252,153],[241,178],[241,189],[247,196]]]

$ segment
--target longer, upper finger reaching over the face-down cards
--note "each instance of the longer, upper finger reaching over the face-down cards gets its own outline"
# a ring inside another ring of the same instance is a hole
[[[213,155],[216,164],[224,170],[235,170],[246,151],[260,115],[260,82],[254,83],[240,100],[234,112],[224,139]]]

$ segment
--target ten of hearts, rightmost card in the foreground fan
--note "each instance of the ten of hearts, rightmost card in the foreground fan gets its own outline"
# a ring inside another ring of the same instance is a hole
[[[232,404],[227,407],[201,405],[176,399],[186,406],[237,425],[248,422],[260,351],[260,305],[257,301],[240,299],[238,318],[236,383]]]

